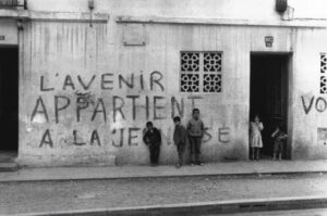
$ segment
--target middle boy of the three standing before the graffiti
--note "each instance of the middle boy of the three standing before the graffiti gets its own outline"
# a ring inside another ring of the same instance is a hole
[[[177,147],[179,162],[175,165],[177,168],[180,168],[183,164],[183,154],[185,151],[186,143],[186,130],[181,124],[181,118],[179,116],[173,117],[174,130],[173,130],[173,142]]]

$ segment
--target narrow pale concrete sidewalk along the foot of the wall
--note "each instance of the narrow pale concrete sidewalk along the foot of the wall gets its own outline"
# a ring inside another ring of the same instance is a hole
[[[251,176],[327,173],[327,161],[259,161],[210,163],[204,166],[105,166],[21,168],[0,173],[0,182],[34,180],[83,180],[182,176]]]

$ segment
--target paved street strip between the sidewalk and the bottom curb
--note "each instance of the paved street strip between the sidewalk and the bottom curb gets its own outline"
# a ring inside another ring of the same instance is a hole
[[[0,183],[0,214],[327,195],[326,175]]]

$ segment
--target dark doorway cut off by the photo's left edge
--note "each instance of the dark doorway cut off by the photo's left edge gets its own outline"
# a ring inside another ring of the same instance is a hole
[[[19,149],[19,48],[0,47],[0,153]]]

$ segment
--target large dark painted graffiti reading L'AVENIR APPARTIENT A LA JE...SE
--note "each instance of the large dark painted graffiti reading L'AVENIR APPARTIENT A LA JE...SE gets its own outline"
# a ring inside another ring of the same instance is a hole
[[[56,77],[58,76],[56,74]],[[114,80],[113,74],[109,73],[93,75],[88,79],[81,75],[75,77],[65,75],[62,85],[58,86],[58,81],[57,85],[51,85],[51,81],[46,80],[45,76],[40,76],[39,91],[41,93],[36,98],[31,122],[64,124],[65,116],[73,113],[74,122],[81,124],[85,124],[85,122],[116,124],[122,120],[134,123],[142,120],[145,124],[146,120],[161,120],[175,115],[184,117],[186,103],[192,104],[190,107],[192,110],[203,100],[199,96],[166,97],[164,93],[166,87],[162,79],[164,74],[158,71],[152,72],[148,79],[145,79],[143,73],[131,74],[129,77],[118,75],[117,80]],[[92,93],[92,89],[95,88],[100,90],[101,97],[95,97]],[[112,94],[110,91],[114,88],[119,90],[137,90],[138,93]],[[156,94],[142,94],[140,90],[149,90],[156,92]],[[106,94],[106,92],[109,93]],[[51,97],[48,96],[50,93],[52,93]],[[168,110],[169,112],[167,112]],[[109,113],[110,115],[108,115]],[[170,115],[167,116],[167,113],[170,113]],[[204,142],[209,142],[213,139],[213,131],[217,132],[218,142],[228,143],[230,141],[230,128],[222,125],[216,131],[214,128],[206,127]],[[113,128],[108,134],[113,138],[111,140],[112,147],[134,147],[138,144],[142,128],[135,127],[133,124],[132,127]],[[70,135],[74,145],[104,144],[101,139],[104,135],[100,135],[97,129],[94,129],[89,135],[78,130],[73,130]],[[39,147],[45,145],[53,148],[50,129],[46,129],[40,139]]]

